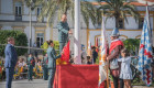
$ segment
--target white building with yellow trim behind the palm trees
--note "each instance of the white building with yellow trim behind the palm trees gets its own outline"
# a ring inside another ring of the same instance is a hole
[[[30,37],[30,12],[29,8],[25,6],[23,0],[0,0],[0,30],[19,30],[24,32],[28,35],[28,38]],[[95,2],[92,2],[95,4]],[[135,22],[135,20],[128,15],[127,23],[124,20],[120,21],[120,34],[121,38],[140,38],[141,31],[142,31],[142,24],[143,24],[143,18],[145,14],[145,7],[143,4],[140,4],[139,2],[135,2],[136,9],[139,13],[141,14],[141,20]],[[58,41],[57,38],[57,29],[55,22],[53,28],[46,26],[46,18],[44,18],[44,21],[40,23],[37,21],[37,15],[40,14],[42,8],[36,7],[34,11],[32,11],[32,44],[36,42],[37,46],[41,46],[41,44],[47,40],[54,40]],[[151,28],[154,29],[154,9],[150,7],[150,23]],[[68,16],[68,24],[70,29],[74,28],[74,22]],[[101,35],[101,25],[99,25],[97,29],[94,28],[92,23],[89,23],[89,26],[87,28],[84,21],[80,22],[81,31],[80,31],[80,38],[81,44],[84,44],[87,48],[88,40],[90,40],[91,45],[95,45],[96,40],[100,38]],[[116,26],[114,19],[109,19],[106,23],[107,29],[107,35],[108,40],[110,40],[110,34],[112,29]],[[73,35],[72,37],[72,47],[73,50]],[[110,42],[110,41],[109,41]]]

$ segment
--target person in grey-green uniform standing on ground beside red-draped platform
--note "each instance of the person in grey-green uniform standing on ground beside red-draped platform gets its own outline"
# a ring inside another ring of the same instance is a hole
[[[50,72],[48,88],[53,88],[54,76],[56,70],[56,59],[61,57],[61,55],[56,56],[53,41],[48,42],[47,57],[48,57],[48,72]]]

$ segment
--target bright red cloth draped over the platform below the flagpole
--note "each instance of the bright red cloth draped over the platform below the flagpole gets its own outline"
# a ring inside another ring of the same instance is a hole
[[[98,88],[98,65],[58,65],[54,88]]]

